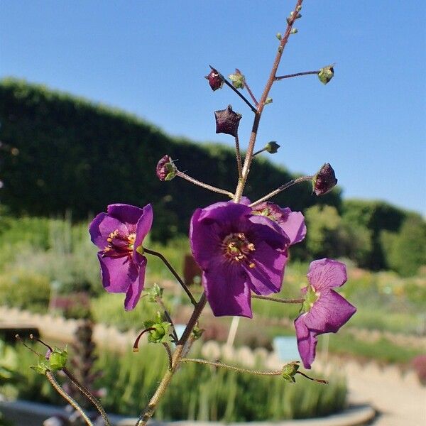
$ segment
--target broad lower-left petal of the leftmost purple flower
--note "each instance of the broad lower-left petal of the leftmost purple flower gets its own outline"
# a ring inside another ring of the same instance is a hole
[[[109,293],[126,293],[129,286],[138,278],[138,267],[129,256],[121,258],[102,257],[98,253],[101,263],[102,285]]]

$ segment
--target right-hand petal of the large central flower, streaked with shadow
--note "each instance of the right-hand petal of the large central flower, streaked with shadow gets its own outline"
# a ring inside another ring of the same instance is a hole
[[[284,268],[287,263],[286,251],[272,249],[266,242],[256,244],[251,259],[254,268],[244,264],[251,281],[251,290],[258,295],[278,293],[283,284]]]

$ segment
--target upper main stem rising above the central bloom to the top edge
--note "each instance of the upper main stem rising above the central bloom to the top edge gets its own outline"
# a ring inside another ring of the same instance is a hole
[[[288,38],[290,37],[290,31],[293,28],[293,24],[295,23],[296,16],[298,13],[297,9],[299,9],[299,7],[302,6],[302,2],[303,0],[297,0],[295,9],[293,11],[293,15],[288,20],[287,29],[285,30],[285,34],[280,41],[280,45],[278,46],[278,52],[275,56],[275,60],[273,61],[271,73],[268,77],[268,81],[266,82],[265,89],[263,89],[261,100],[258,103],[256,115],[254,116],[254,120],[253,120],[253,126],[251,127],[249,147],[247,148],[246,158],[244,160],[243,177],[239,180],[238,185],[236,186],[234,202],[239,202],[241,200],[241,196],[243,195],[244,187],[246,186],[247,178],[250,172],[251,160],[253,159],[253,150],[254,150],[254,145],[256,143],[256,137],[257,137],[257,132],[259,128],[259,123],[261,121],[262,111],[263,111],[263,108],[265,107],[265,102],[266,102],[266,99],[268,98],[268,94],[271,90],[272,84],[275,81],[275,75],[278,70],[278,65],[280,65],[280,60],[281,60],[281,57],[283,56],[285,45],[287,44]]]

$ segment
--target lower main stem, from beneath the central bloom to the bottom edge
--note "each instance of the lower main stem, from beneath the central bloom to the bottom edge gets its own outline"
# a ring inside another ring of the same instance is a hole
[[[138,421],[136,422],[136,426],[145,426],[148,420],[151,419],[151,417],[153,417],[155,408],[157,408],[157,405],[160,399],[164,395],[166,389],[168,388],[170,384],[170,381],[172,381],[173,375],[175,374],[176,370],[178,369],[178,366],[180,365],[182,361],[185,345],[187,344],[188,340],[191,337],[192,329],[194,329],[195,324],[197,324],[197,321],[200,318],[200,315],[202,313],[202,310],[204,309],[204,306],[206,305],[206,302],[207,302],[207,297],[205,293],[202,293],[200,301],[195,306],[194,312],[192,312],[192,316],[190,317],[190,320],[187,323],[185,331],[183,332],[182,337],[180,338],[180,341],[178,342],[178,345],[176,346],[175,352],[173,353],[171,368],[170,370],[166,371],[165,375],[160,381],[160,384],[158,385],[157,390],[155,391],[154,395],[152,396],[145,410],[143,410],[143,413],[141,414],[141,416],[138,418]]]

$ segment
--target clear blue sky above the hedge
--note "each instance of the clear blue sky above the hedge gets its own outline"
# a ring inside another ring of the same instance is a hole
[[[260,94],[295,0],[0,0],[0,77],[22,77],[141,116],[171,135],[233,143],[214,133],[213,111],[252,114],[229,89],[212,92],[212,64],[244,72]],[[334,166],[345,197],[426,212],[424,0],[305,0],[280,73],[336,62],[274,85],[259,146],[294,172]],[[162,155],[163,153],[158,153]],[[190,170],[191,165],[180,164]]]

